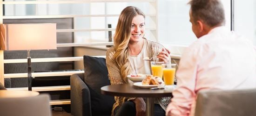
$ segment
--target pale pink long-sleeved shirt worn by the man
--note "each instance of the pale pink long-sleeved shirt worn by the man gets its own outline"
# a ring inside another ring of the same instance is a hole
[[[256,52],[246,39],[216,27],[186,49],[176,77],[168,108],[179,112],[174,114],[194,116],[200,90],[256,87]]]

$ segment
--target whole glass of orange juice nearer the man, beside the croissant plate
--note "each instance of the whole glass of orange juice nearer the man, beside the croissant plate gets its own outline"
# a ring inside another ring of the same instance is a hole
[[[163,68],[163,81],[165,85],[174,84],[176,64],[166,64]]]

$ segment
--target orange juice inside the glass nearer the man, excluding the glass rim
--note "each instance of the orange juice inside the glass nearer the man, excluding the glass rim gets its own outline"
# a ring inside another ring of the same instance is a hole
[[[176,71],[175,68],[164,68],[163,69],[164,84],[166,84],[166,85],[174,84],[175,71]]]

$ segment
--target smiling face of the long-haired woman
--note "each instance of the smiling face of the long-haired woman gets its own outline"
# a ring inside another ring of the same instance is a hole
[[[142,15],[137,15],[132,20],[130,42],[138,42],[144,36],[145,19]]]

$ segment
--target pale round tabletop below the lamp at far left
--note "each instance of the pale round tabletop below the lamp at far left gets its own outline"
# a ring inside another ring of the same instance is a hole
[[[0,98],[13,98],[13,97],[33,97],[38,96],[39,92],[27,90],[0,90]]]

